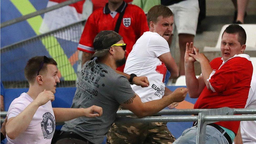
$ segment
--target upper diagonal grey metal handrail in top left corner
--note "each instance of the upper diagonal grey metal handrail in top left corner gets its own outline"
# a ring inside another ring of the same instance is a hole
[[[21,16],[21,17],[18,17],[18,18],[12,19],[12,20],[8,20],[7,22],[1,23],[1,24],[0,24],[0,28],[3,28],[3,27],[6,27],[6,26],[8,26],[8,25],[12,25],[12,24],[21,22],[21,21],[23,21],[23,20],[26,20],[26,19],[35,17],[35,16],[40,15],[40,14],[43,14],[43,13],[50,12],[50,11],[52,11],[52,10],[55,10],[55,9],[58,9],[58,8],[61,8],[61,7],[70,5],[70,4],[72,4],[72,3],[79,2],[79,1],[82,1],[82,0],[69,0],[69,1],[65,1],[65,2],[62,2],[62,3],[60,3],[60,4],[56,4],[56,5],[54,5],[54,6],[51,6],[51,7],[48,7],[48,8],[39,10],[39,11],[36,11],[36,12],[34,12],[34,13],[26,14],[26,15],[23,15],[23,16]]]

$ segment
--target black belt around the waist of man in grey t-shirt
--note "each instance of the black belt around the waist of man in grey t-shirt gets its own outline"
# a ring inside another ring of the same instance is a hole
[[[75,138],[75,139],[84,141],[86,144],[93,144],[92,142],[88,141],[86,138],[84,138],[72,131],[61,131],[60,134],[58,134],[56,141],[63,139],[63,138]]]

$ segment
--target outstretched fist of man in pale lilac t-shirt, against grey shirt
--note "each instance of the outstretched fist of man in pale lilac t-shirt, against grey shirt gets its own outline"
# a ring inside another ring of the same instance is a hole
[[[89,108],[83,109],[84,116],[88,118],[94,118],[102,115],[102,107],[93,105]]]

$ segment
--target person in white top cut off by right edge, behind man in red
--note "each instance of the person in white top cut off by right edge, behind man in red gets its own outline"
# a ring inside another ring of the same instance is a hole
[[[245,108],[256,108],[256,75],[252,76],[248,99]],[[235,144],[254,144],[256,143],[256,121],[241,121],[237,135],[234,139]]]

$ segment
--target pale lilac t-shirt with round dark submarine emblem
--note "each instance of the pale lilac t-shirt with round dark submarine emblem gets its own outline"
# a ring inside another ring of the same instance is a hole
[[[33,99],[27,94],[22,93],[18,98],[14,99],[10,104],[7,117],[8,119],[16,117],[20,114]],[[55,131],[55,116],[52,110],[51,101],[39,106],[28,128],[17,138],[11,140],[7,136],[7,143],[40,143],[50,144]]]

